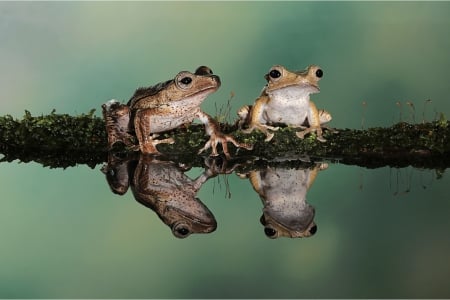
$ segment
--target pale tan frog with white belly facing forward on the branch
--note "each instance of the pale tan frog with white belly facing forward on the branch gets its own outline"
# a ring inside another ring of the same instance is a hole
[[[266,135],[266,142],[272,140],[274,133],[284,124],[303,129],[296,132],[303,139],[308,133],[316,133],[320,142],[326,142],[322,127],[332,117],[326,110],[317,109],[310,95],[319,93],[319,80],[323,70],[310,65],[302,71],[290,71],[282,65],[274,65],[264,76],[267,83],[252,106],[243,106],[238,111],[238,127],[244,133],[257,129]]]

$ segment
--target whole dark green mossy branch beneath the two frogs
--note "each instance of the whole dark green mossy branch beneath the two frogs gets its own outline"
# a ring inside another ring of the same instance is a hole
[[[423,124],[398,123],[389,128],[367,130],[325,130],[321,143],[311,134],[301,140],[295,129],[284,127],[275,132],[269,143],[260,132],[244,134],[234,125],[221,124],[223,132],[239,141],[254,145],[252,151],[240,149],[235,158],[259,157],[298,159],[325,158],[365,167],[407,166],[445,169],[450,165],[450,126],[442,115],[438,121]],[[193,124],[167,132],[161,138],[173,137],[175,144],[158,146],[167,156],[184,162],[199,162],[196,154],[207,140],[202,125]],[[34,160],[51,167],[75,164],[95,166],[106,160],[107,137],[102,118],[88,114],[70,116],[55,114],[33,117],[25,112],[22,120],[0,117],[0,151],[4,161]],[[230,145],[230,147],[232,147]],[[116,150],[125,149],[116,147]]]

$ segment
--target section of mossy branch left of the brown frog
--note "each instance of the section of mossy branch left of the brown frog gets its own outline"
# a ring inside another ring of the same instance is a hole
[[[45,166],[68,167],[77,163],[94,167],[106,158],[103,119],[88,114],[70,116],[52,111],[22,120],[0,117],[0,152],[3,161],[37,161]]]

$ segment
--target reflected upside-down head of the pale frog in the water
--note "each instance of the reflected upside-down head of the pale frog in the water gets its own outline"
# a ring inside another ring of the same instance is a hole
[[[309,204],[300,215],[286,215],[283,212],[264,209],[260,222],[264,226],[264,233],[271,239],[310,237],[317,232],[314,215],[314,207]]]

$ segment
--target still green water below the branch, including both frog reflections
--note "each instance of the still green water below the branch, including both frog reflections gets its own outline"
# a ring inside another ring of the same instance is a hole
[[[15,170],[2,184],[14,195],[1,201],[2,297],[449,293],[448,174],[330,163],[208,179],[230,170],[138,158],[125,173],[122,163],[109,181],[106,164],[1,165]],[[267,236],[278,234],[289,237]]]

